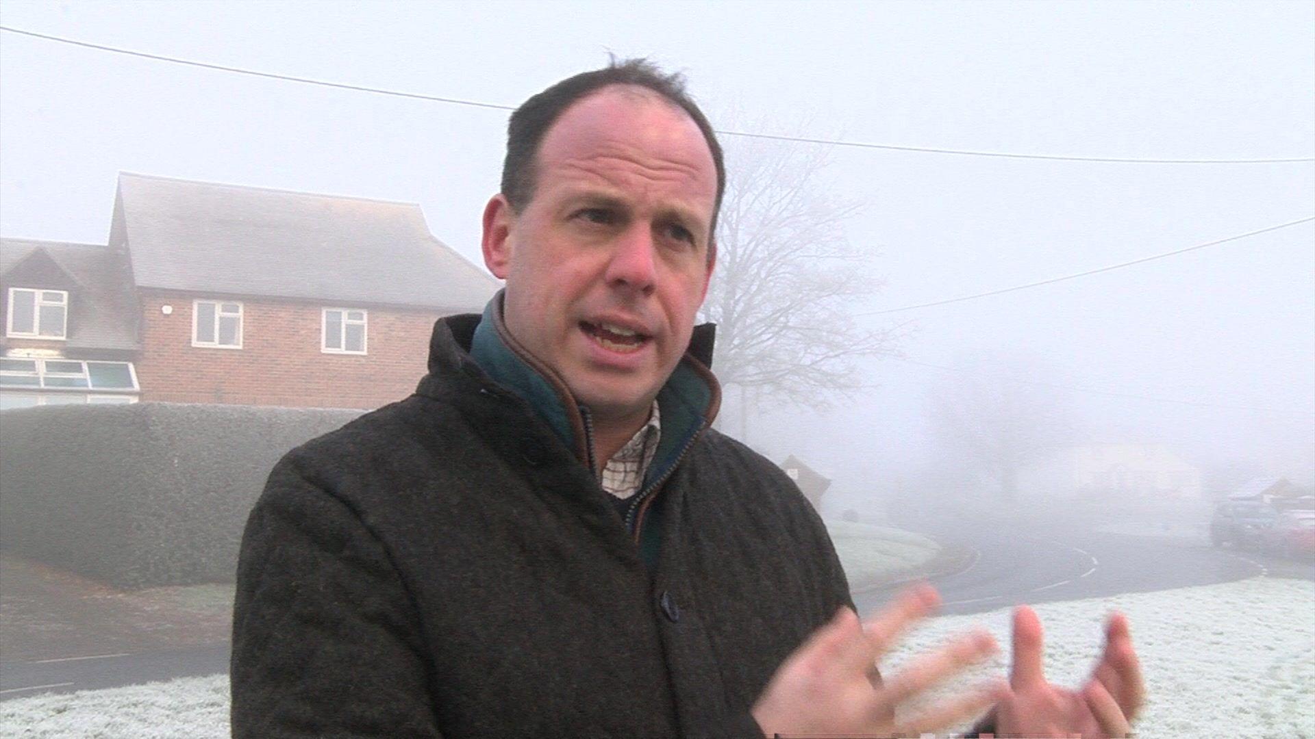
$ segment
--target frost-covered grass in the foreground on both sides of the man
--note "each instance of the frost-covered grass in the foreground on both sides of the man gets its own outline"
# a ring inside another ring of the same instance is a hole
[[[1044,604],[1045,671],[1055,682],[1086,679],[1101,650],[1105,614],[1118,609],[1147,680],[1135,730],[1151,736],[1315,738],[1315,583],[1255,577],[1239,583]],[[928,621],[882,661],[898,665],[951,634],[985,626],[1003,651],[960,681],[1003,675],[1009,610]],[[947,688],[952,689],[952,686]],[[0,734],[13,738],[222,738],[229,735],[227,676],[188,677],[108,690],[0,702]]]

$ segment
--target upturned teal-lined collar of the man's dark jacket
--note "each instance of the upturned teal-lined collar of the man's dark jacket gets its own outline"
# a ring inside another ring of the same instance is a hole
[[[526,351],[506,330],[502,322],[502,292],[493,296],[484,308],[484,316],[473,326],[473,331],[469,327],[471,318],[473,317],[455,316],[443,321],[448,323],[454,337],[469,337],[469,358],[489,379],[529,402],[576,459],[597,472],[600,463],[593,459],[588,409],[576,401],[565,381],[552,368]],[[658,392],[663,433],[644,476],[646,487],[665,477],[689,443],[717,417],[721,385],[709,370],[715,329],[713,323],[694,327],[685,356]],[[437,359],[434,352],[439,348],[433,343],[430,346],[431,368]]]

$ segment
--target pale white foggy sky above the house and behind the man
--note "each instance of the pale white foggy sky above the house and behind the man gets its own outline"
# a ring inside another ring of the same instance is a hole
[[[484,270],[496,107],[608,54],[648,57],[685,72],[718,129],[876,145],[722,137],[732,180],[764,149],[817,154],[811,193],[855,205],[839,235],[871,283],[840,314],[897,337],[853,360],[847,393],[727,387],[722,430],[828,477],[828,515],[1038,500],[965,446],[1015,426],[1019,467],[1091,444],[1168,450],[1199,472],[1193,504],[1257,477],[1315,485],[1315,222],[922,306],[1315,216],[1315,3],[0,9],[12,29],[494,105],[0,32],[7,238],[107,243],[126,171],[418,203]],[[1236,162],[1255,159],[1297,160]]]

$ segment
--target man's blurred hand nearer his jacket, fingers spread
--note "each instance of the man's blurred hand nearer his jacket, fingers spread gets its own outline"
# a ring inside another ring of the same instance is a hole
[[[842,609],[772,676],[752,710],[759,727],[768,736],[917,736],[968,719],[1001,700],[1005,685],[988,685],[897,719],[896,705],[995,651],[990,634],[977,631],[915,659],[885,681],[874,680],[876,660],[939,600],[930,586],[914,588],[867,625],[860,625],[852,610]]]

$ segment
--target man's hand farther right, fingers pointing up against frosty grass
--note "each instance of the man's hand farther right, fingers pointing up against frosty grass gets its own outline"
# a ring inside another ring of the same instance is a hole
[[[1014,609],[1014,664],[1010,692],[995,706],[1002,736],[1127,736],[1141,710],[1145,689],[1128,619],[1110,617],[1105,654],[1081,690],[1045,681],[1041,671],[1041,622],[1027,606]]]

